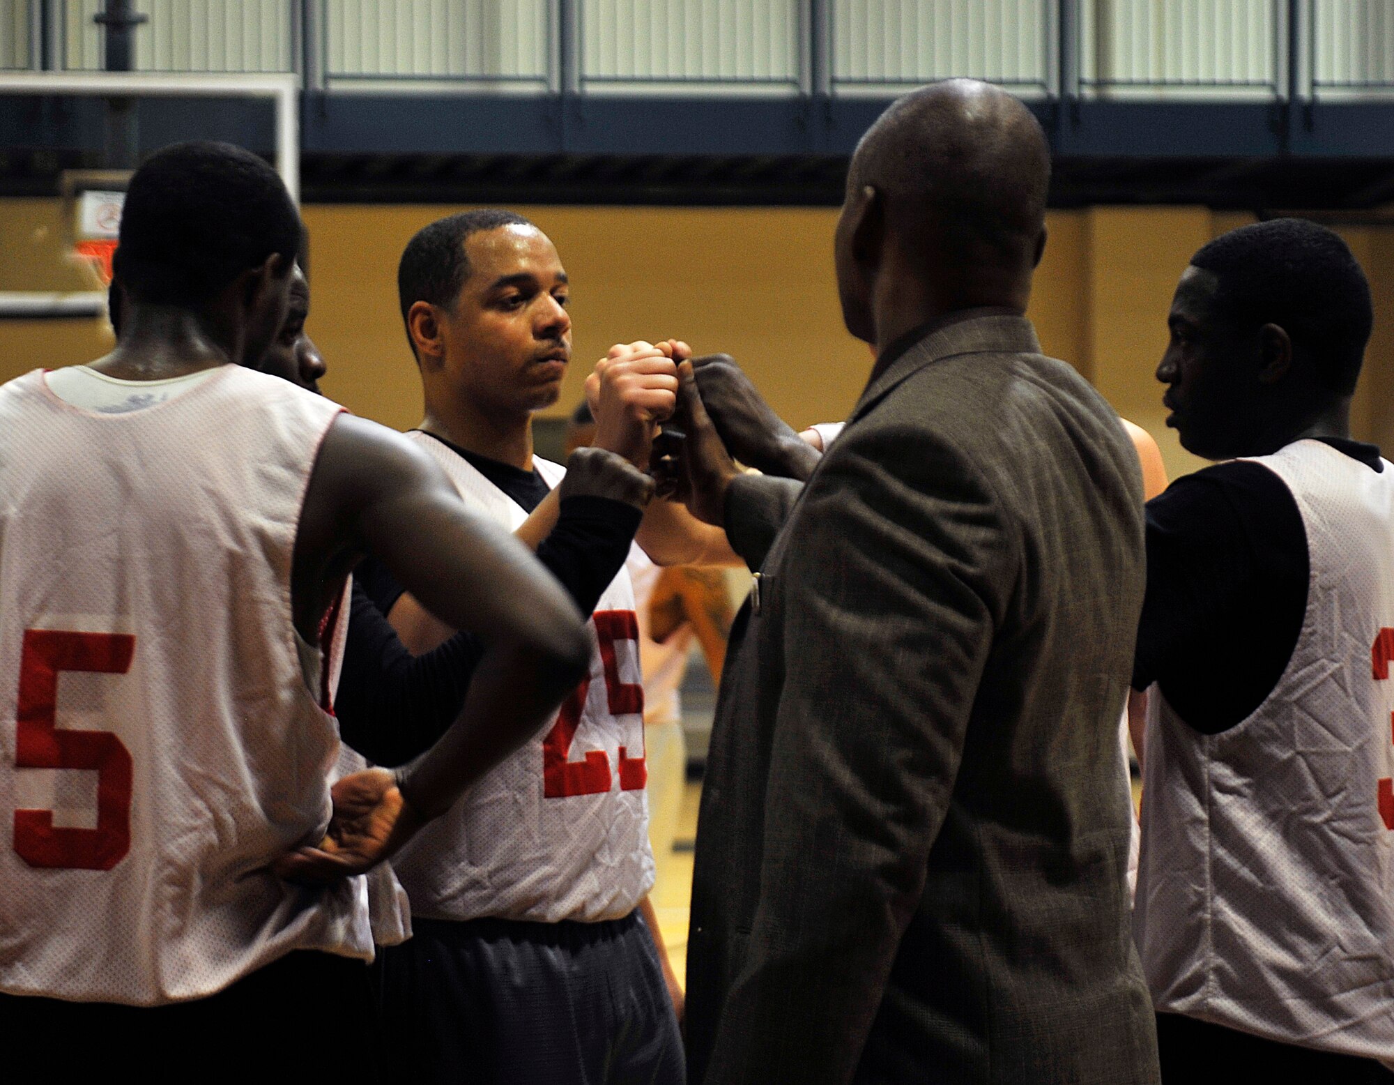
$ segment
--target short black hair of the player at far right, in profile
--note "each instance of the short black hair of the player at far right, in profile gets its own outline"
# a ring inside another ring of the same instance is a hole
[[[1221,234],[1190,258],[1218,279],[1216,305],[1238,324],[1276,324],[1349,396],[1361,377],[1374,310],[1349,247],[1306,219],[1270,219]]]

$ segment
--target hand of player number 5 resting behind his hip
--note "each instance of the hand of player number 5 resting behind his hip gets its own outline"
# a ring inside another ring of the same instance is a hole
[[[333,816],[318,847],[304,847],[272,863],[287,881],[328,886],[361,874],[390,858],[422,826],[386,768],[346,775],[330,789]]]

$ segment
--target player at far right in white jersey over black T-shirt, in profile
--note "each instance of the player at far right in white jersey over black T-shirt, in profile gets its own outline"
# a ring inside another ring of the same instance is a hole
[[[1394,469],[1351,438],[1370,291],[1309,222],[1177,286],[1157,379],[1224,460],[1147,506],[1135,934],[1163,1078],[1394,1081]]]

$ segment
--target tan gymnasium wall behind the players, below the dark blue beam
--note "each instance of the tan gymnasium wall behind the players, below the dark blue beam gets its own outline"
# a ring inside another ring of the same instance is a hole
[[[456,208],[311,205],[309,331],[329,361],[328,395],[397,428],[421,414],[396,303],[407,238]],[[619,340],[677,336],[725,350],[796,425],[841,418],[871,365],[842,328],[832,276],[836,212],[809,208],[538,206],[524,212],[556,241],[572,278],[574,361],[560,403],[581,397],[591,363]],[[1075,364],[1121,414],[1158,441],[1171,474],[1193,470],[1164,424],[1153,378],[1165,314],[1190,254],[1252,220],[1203,208],[1093,208],[1050,215],[1050,244],[1030,315],[1047,353]],[[0,289],[32,275],[61,289],[29,237],[57,227],[56,202],[0,201]],[[26,234],[29,232],[29,234]],[[1356,396],[1358,437],[1394,449],[1394,230],[1342,232],[1370,276],[1376,329]],[[28,237],[28,240],[26,240]],[[28,268],[25,268],[28,262]],[[53,262],[52,257],[47,262]],[[95,357],[95,321],[0,321],[0,378]]]

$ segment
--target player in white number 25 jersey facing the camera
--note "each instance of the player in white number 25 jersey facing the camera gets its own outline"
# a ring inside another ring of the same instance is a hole
[[[408,438],[471,509],[514,527],[563,474],[533,455],[530,427],[533,411],[556,400],[570,360],[556,250],[517,215],[453,215],[411,238],[397,282],[425,393],[425,418]],[[673,364],[622,370],[623,382],[608,385],[597,443],[647,464],[652,423],[675,402]],[[438,643],[439,623],[403,586],[381,576],[365,584],[408,647]],[[383,1004],[404,1072],[682,1079],[658,932],[651,909],[647,923],[638,915],[654,865],[637,622],[623,570],[602,593],[591,632],[590,678],[551,731],[395,860],[414,937],[385,954]]]

